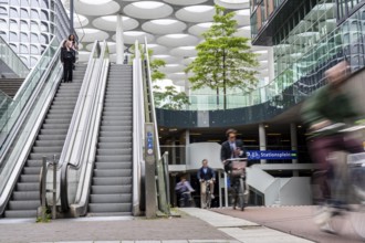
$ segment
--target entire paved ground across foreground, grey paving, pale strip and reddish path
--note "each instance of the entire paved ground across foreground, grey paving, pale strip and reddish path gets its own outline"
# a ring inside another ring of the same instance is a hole
[[[341,235],[320,232],[311,207],[247,208],[210,211],[186,208],[181,218],[81,218],[35,223],[0,220],[0,242],[55,243],[357,243],[348,222]]]

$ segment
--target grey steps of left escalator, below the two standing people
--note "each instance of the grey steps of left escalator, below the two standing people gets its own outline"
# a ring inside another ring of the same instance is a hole
[[[6,218],[35,218],[40,207],[40,171],[42,157],[60,158],[71,117],[79,97],[86,65],[76,64],[73,82],[61,83],[43,120],[24,168],[4,212]]]

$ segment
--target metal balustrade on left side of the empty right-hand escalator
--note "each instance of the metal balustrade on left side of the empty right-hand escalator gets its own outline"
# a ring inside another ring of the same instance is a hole
[[[104,104],[104,96],[106,89],[106,80],[109,66],[109,60],[107,56],[108,49],[106,41],[102,45],[102,54],[100,56],[101,67],[96,73],[97,85],[95,86],[93,105],[91,106],[87,129],[85,134],[87,138],[83,146],[83,155],[80,159],[82,171],[79,179],[79,187],[75,194],[74,203],[72,204],[72,212],[74,216],[85,215],[87,213],[88,196],[93,179],[93,169],[96,157],[96,146],[98,140],[98,131],[102,122],[102,112]],[[69,169],[73,169],[69,168]]]

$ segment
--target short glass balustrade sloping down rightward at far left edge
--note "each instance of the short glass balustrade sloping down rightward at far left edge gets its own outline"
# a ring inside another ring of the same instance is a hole
[[[12,70],[20,78],[24,78],[29,68],[3,38],[0,36],[0,60]]]

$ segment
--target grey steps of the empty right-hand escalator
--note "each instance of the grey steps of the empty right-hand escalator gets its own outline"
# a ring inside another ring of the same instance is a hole
[[[93,172],[90,214],[132,214],[132,66],[111,65]]]

